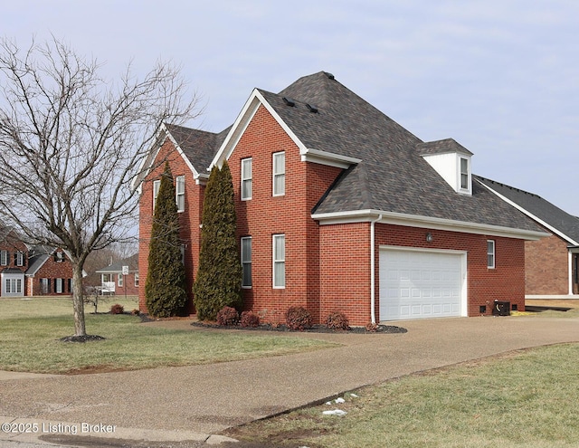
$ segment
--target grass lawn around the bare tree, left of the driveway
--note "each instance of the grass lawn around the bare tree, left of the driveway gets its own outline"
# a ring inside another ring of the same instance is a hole
[[[111,298],[99,310],[120,303],[137,308],[134,299]],[[0,300],[0,370],[36,373],[83,373],[186,366],[276,356],[332,347],[308,338],[280,334],[247,334],[237,331],[151,328],[138,316],[90,314],[89,334],[99,342],[63,343],[59,338],[74,332],[70,299]]]

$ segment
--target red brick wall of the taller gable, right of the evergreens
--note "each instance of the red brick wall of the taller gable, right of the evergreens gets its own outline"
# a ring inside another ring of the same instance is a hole
[[[272,154],[285,151],[286,194],[272,195]],[[241,200],[241,160],[252,157],[252,199]],[[340,169],[302,162],[299,148],[262,106],[242,135],[229,166],[236,197],[238,237],[252,236],[252,288],[243,290],[244,308],[265,321],[284,321],[289,307],[319,310],[319,233],[311,209]],[[272,286],[272,235],[286,235],[286,287]]]

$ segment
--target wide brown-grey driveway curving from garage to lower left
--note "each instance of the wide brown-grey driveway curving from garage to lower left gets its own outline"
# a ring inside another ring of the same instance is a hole
[[[188,323],[175,325],[198,331]],[[227,427],[360,386],[520,348],[579,341],[579,319],[423,319],[396,325],[408,332],[291,333],[342,345],[283,357],[68,377],[0,374],[0,423],[17,418],[69,424],[68,431],[74,425],[79,433],[85,424],[92,432],[81,435],[212,443],[221,439],[210,434]],[[103,429],[108,425],[114,431]],[[50,433],[52,426],[45,428]],[[34,440],[34,434],[12,435],[0,433],[0,440]]]

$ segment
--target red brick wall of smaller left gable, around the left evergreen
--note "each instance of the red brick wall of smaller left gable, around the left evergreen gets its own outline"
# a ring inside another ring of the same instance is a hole
[[[148,272],[148,247],[151,227],[153,224],[153,180],[160,178],[165,168],[165,160],[169,161],[173,178],[185,176],[185,212],[179,214],[181,227],[180,237],[185,246],[185,289],[189,297],[188,312],[194,312],[193,281],[199,260],[201,210],[203,207],[204,186],[196,185],[191,169],[176,151],[173,143],[167,138],[153,164],[155,167],[142,184],[139,199],[139,247],[138,247],[138,306],[139,310],[147,312],[145,304],[145,283]],[[195,160],[193,161],[195,163]]]

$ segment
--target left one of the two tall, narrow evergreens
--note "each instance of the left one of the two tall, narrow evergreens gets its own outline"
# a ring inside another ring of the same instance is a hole
[[[166,318],[185,310],[185,266],[179,239],[175,185],[168,163],[161,176],[153,214],[145,296],[147,310],[153,316]]]

